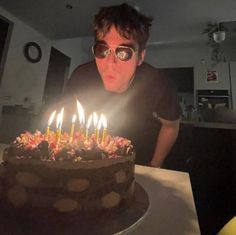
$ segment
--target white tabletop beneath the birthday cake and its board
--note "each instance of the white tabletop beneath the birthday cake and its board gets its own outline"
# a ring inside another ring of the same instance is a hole
[[[0,144],[0,156],[5,147]],[[123,234],[200,234],[188,173],[139,165],[135,173],[136,181],[148,193],[150,207],[145,217]]]

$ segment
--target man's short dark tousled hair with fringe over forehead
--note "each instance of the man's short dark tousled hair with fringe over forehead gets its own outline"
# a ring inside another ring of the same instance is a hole
[[[152,20],[151,17],[144,16],[126,3],[102,7],[94,17],[95,38],[104,37],[111,26],[115,26],[122,37],[137,41],[141,52],[149,38]]]

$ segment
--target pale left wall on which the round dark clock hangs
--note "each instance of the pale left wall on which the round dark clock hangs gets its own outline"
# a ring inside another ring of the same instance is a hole
[[[37,112],[42,102],[50,41],[2,8],[0,14],[14,23],[2,75],[0,104],[32,106]],[[24,45],[30,41],[37,42],[42,49],[42,59],[38,63],[30,63],[24,57]],[[24,102],[26,97],[27,103]]]

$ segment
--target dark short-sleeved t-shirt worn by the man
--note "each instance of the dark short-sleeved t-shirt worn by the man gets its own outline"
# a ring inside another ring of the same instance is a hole
[[[136,163],[144,165],[150,163],[154,153],[161,126],[158,117],[177,120],[181,114],[173,84],[146,63],[137,68],[132,84],[123,93],[104,89],[95,61],[81,65],[69,79],[64,98],[70,104],[71,98],[78,98],[87,118],[93,111],[104,113],[108,132],[130,139]]]

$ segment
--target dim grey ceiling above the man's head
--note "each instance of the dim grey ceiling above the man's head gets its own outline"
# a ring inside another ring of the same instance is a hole
[[[231,22],[235,0],[0,0],[0,6],[51,40],[92,36],[93,16],[102,6],[127,2],[154,17],[150,44],[202,40],[208,22]],[[67,8],[71,6],[71,9]]]

